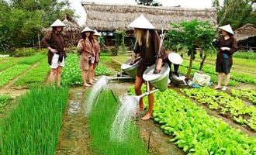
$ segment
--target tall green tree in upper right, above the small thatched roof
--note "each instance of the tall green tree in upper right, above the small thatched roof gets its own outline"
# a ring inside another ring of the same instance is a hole
[[[223,6],[220,6],[219,0],[213,0],[218,25],[230,24],[233,29],[244,26],[248,22],[256,25],[254,2],[255,0],[224,0]]]

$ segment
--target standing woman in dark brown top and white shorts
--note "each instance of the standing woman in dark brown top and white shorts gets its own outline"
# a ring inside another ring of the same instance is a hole
[[[57,86],[61,86],[61,71],[64,66],[64,59],[67,57],[64,47],[64,37],[61,31],[65,24],[57,19],[52,25],[52,31],[46,34],[42,40],[42,46],[48,49],[48,64],[50,64],[50,84],[54,85],[56,75]]]

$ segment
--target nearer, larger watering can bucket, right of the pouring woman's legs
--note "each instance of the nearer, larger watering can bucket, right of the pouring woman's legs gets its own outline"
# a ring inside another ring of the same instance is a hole
[[[154,74],[154,68],[155,64],[148,67],[146,71],[144,71],[144,81],[149,81],[149,83],[154,88],[159,89],[159,91],[165,91],[168,88],[170,68],[168,64],[164,63],[160,73],[158,74]]]

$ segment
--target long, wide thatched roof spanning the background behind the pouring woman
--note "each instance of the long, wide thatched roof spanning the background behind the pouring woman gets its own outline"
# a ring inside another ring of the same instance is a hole
[[[86,25],[99,30],[124,30],[134,19],[143,14],[157,29],[169,29],[170,22],[198,19],[216,25],[215,9],[182,9],[144,5],[113,5],[81,2],[87,13]]]

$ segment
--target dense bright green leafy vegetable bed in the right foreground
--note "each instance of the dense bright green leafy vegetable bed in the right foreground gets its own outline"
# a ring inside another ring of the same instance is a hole
[[[254,137],[209,116],[206,110],[171,89],[155,94],[153,116],[164,133],[174,136],[170,141],[189,154],[256,153]]]

